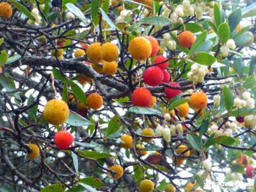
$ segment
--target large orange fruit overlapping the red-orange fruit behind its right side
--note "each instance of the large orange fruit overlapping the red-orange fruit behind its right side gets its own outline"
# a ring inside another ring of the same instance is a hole
[[[152,46],[147,38],[137,36],[129,42],[128,51],[135,60],[144,61],[150,57]]]

